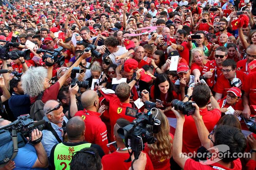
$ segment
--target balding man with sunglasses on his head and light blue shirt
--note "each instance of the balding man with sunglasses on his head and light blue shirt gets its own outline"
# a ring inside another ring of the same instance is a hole
[[[44,105],[44,115],[50,121],[52,129],[42,131],[42,144],[45,148],[47,157],[50,157],[52,147],[63,141],[62,125],[68,122],[67,117],[63,113],[62,105],[56,100],[48,100]]]

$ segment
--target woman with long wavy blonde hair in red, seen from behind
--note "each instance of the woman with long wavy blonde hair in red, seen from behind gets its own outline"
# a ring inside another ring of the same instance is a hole
[[[170,170],[170,158],[172,157],[173,135],[170,134],[170,125],[165,114],[160,110],[152,111],[156,119],[160,120],[161,130],[154,137],[157,142],[145,145],[145,152],[150,157],[154,170]]]

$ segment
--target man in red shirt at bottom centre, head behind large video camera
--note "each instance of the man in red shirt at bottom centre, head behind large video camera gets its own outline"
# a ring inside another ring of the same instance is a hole
[[[128,125],[130,122],[123,118],[117,119],[114,125],[114,140],[117,144],[117,150],[112,154],[102,157],[101,162],[104,170],[127,170],[131,166],[131,162],[124,162],[129,158],[128,148],[124,144],[124,140],[118,135],[117,130]],[[129,149],[131,152],[131,149]],[[153,170],[154,167],[147,155],[147,163],[145,170]]]

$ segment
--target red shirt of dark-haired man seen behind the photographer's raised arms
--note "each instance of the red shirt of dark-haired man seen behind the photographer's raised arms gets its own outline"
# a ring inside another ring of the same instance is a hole
[[[211,132],[215,124],[221,118],[221,111],[219,109],[213,109],[207,111],[207,108],[199,109],[200,115],[204,121],[204,125],[207,130]],[[182,152],[193,153],[202,145],[197,134],[196,124],[192,116],[185,116],[185,122],[183,126],[183,137],[182,137]]]

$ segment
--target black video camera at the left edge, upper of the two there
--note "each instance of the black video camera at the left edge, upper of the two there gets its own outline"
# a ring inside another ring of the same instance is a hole
[[[6,40],[0,40],[0,42],[5,42],[4,46],[0,46],[0,59],[18,59],[20,57],[24,57],[24,59],[30,59],[30,50],[26,49],[25,51],[12,50],[10,51],[10,47],[19,47],[19,43],[17,42],[9,42]]]

